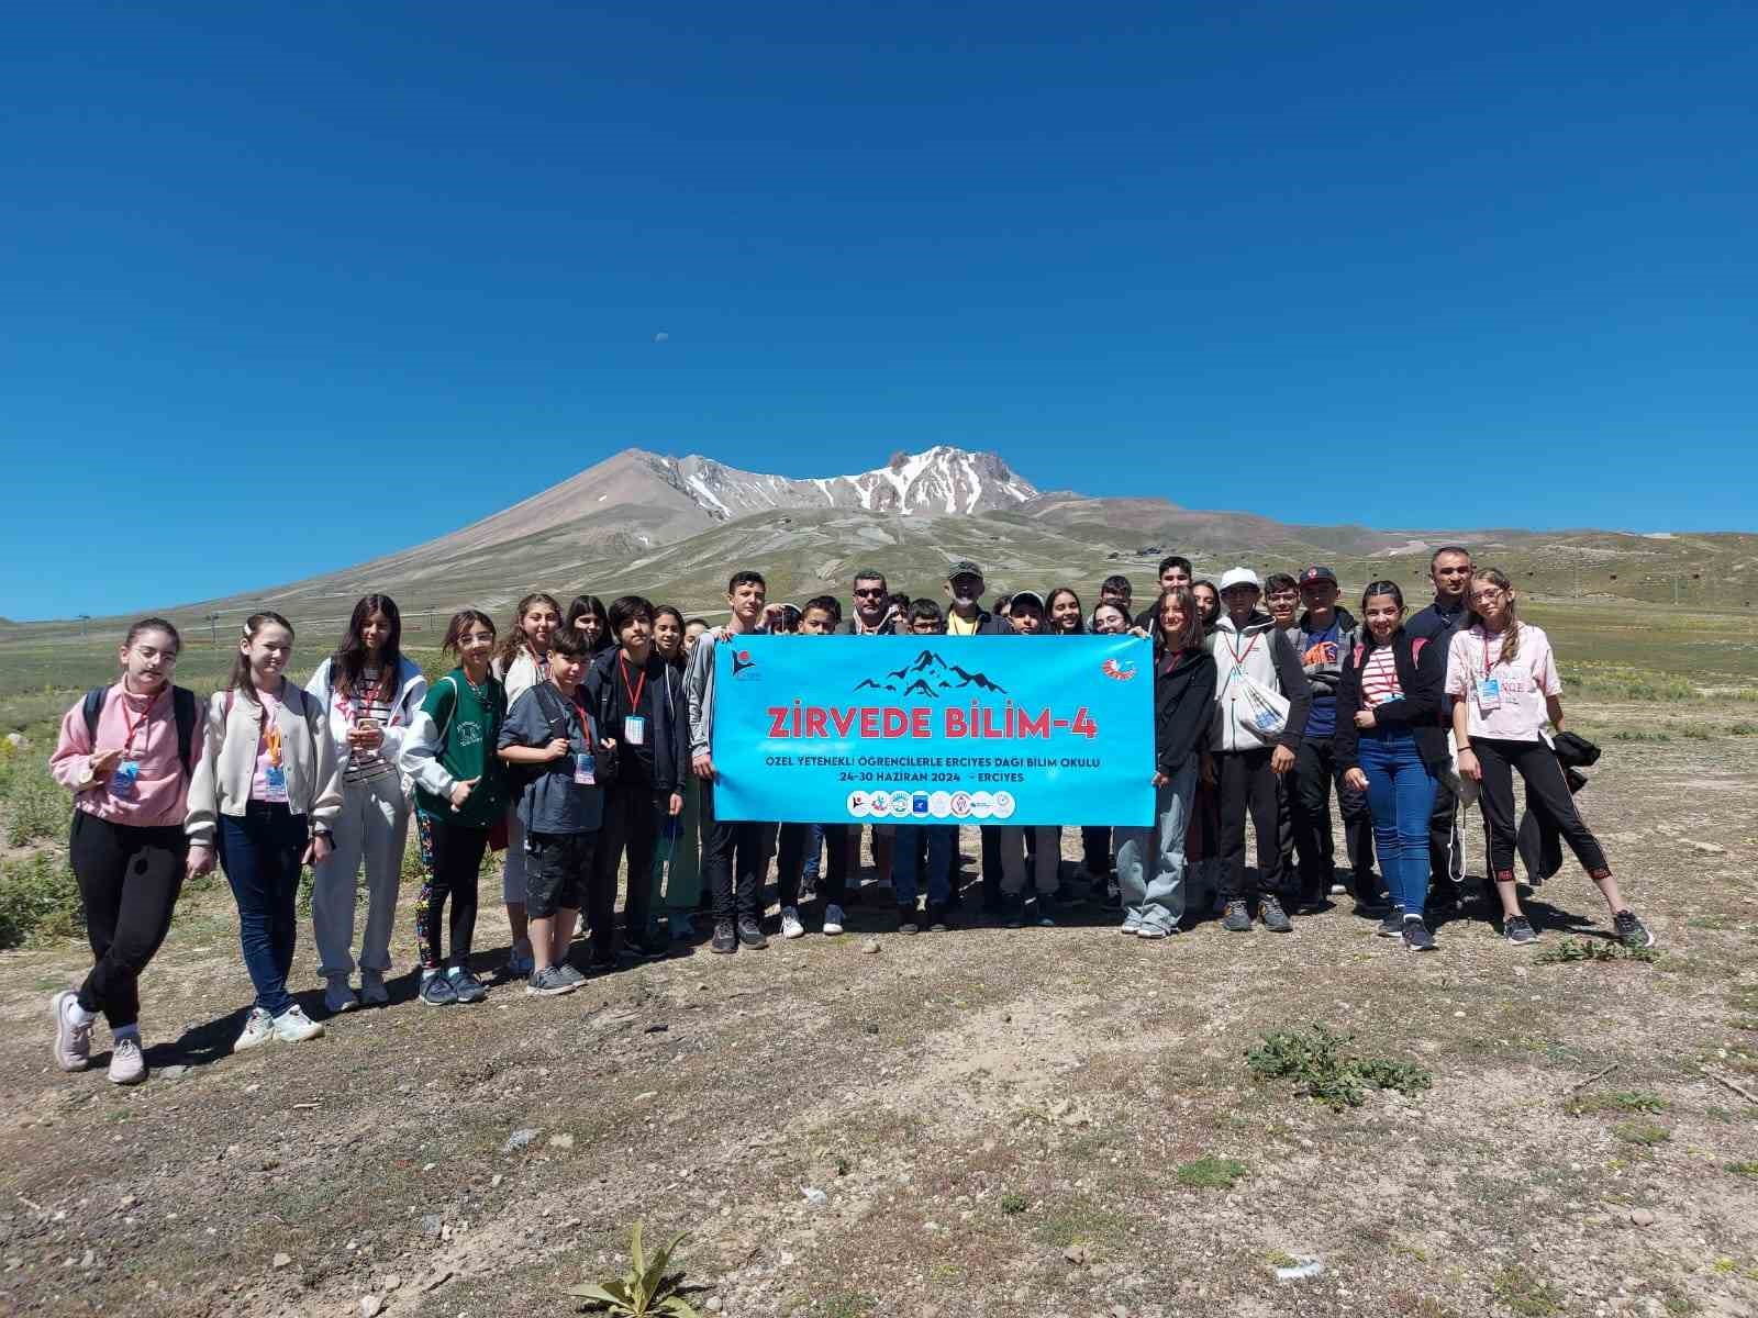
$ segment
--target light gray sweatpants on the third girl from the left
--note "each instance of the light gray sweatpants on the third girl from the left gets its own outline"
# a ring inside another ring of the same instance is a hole
[[[403,777],[385,773],[341,789],[341,814],[331,826],[331,854],[311,873],[311,935],[318,974],[353,972],[355,875],[366,865],[366,930],[360,968],[390,970],[390,930],[403,880],[403,844],[410,835],[410,798]]]

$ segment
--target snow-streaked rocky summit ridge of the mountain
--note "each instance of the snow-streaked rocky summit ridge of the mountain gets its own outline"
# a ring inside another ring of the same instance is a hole
[[[716,520],[774,508],[863,508],[874,513],[988,513],[1037,496],[997,453],[937,445],[854,476],[791,480],[740,471],[710,457],[659,457],[673,489]]]

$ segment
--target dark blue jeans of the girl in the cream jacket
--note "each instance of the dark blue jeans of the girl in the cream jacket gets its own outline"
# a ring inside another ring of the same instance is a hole
[[[269,1016],[294,1005],[287,974],[299,933],[299,856],[308,840],[306,817],[285,805],[250,801],[241,817],[220,815],[220,865],[237,902],[237,940],[257,1005]]]

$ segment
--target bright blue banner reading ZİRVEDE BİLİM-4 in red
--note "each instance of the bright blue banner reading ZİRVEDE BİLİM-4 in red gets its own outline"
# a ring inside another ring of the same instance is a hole
[[[1153,822],[1136,636],[735,636],[714,812],[814,824]]]

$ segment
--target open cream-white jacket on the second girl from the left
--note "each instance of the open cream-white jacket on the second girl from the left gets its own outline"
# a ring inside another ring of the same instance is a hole
[[[227,706],[230,705],[230,712]],[[281,687],[274,724],[281,729],[281,764],[287,770],[287,808],[308,815],[329,831],[341,814],[341,759],[329,738],[323,706],[295,684]],[[243,691],[216,691],[202,721],[202,757],[190,778],[190,814],[183,831],[213,845],[218,815],[243,817],[250,782],[257,775],[262,706]]]

